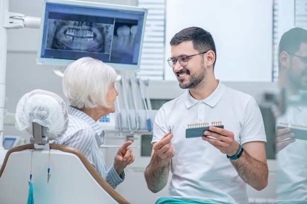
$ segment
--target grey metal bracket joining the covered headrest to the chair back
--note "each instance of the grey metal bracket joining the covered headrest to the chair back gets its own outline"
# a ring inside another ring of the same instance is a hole
[[[34,149],[49,150],[49,138],[46,136],[47,128],[36,122],[32,122],[32,132],[33,136],[30,137],[30,143],[34,144]]]

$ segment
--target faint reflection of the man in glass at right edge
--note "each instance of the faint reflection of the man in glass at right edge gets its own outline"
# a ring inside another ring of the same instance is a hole
[[[278,204],[307,203],[307,30],[286,31],[278,47],[285,110],[276,117]]]

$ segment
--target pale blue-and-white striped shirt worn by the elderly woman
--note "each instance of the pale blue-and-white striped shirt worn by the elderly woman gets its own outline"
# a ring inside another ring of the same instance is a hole
[[[100,150],[104,140],[104,131],[95,120],[82,111],[70,106],[68,113],[67,131],[55,142],[80,150],[102,178],[115,189],[124,181],[125,172],[123,171],[119,176],[113,165],[106,170],[106,164]]]

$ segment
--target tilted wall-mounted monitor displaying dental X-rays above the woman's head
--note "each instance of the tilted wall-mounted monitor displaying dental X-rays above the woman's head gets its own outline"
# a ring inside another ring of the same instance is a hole
[[[138,70],[147,9],[74,0],[43,3],[37,63],[67,66],[81,57]]]

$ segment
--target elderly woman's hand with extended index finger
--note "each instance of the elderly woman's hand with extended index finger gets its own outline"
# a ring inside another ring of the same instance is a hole
[[[132,150],[128,148],[132,144],[132,141],[127,141],[119,148],[117,154],[114,158],[114,168],[118,175],[120,175],[127,165],[131,164],[134,161],[134,155]]]

